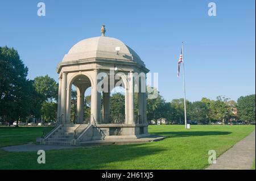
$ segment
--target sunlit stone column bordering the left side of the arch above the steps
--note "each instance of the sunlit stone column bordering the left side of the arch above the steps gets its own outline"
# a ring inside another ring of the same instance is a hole
[[[60,116],[62,123],[65,123],[65,113],[66,113],[66,91],[67,91],[67,73],[62,73],[61,80],[61,106],[60,106]]]

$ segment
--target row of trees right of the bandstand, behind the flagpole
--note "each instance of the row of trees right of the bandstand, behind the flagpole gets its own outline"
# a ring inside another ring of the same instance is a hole
[[[221,121],[242,121],[255,124],[255,94],[241,96],[237,102],[225,96],[217,96],[216,100],[202,98],[200,101],[186,100],[187,119],[196,124],[210,124]],[[184,124],[184,99],[173,99],[166,102],[159,94],[158,98],[147,100],[147,119],[166,119],[171,124]]]

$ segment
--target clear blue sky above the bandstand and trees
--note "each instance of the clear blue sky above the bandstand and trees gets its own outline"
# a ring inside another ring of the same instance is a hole
[[[46,16],[37,15],[38,2]],[[208,16],[215,2],[217,16]],[[0,46],[18,50],[28,78],[57,80],[56,67],[82,39],[116,37],[133,48],[170,101],[183,96],[176,77],[184,41],[187,99],[255,94],[255,1],[0,1]]]

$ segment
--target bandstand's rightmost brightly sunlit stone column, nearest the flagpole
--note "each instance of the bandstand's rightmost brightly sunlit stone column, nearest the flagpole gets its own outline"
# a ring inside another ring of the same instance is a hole
[[[133,72],[130,71],[129,74],[129,123],[128,124],[134,124],[134,79],[133,79]]]

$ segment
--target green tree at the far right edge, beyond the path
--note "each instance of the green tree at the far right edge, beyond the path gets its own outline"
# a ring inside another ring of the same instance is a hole
[[[237,116],[247,124],[255,122],[255,94],[238,98]]]

